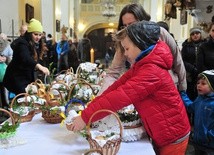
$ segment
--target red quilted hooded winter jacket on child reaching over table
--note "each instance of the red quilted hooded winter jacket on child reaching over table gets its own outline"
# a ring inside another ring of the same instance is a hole
[[[172,59],[169,47],[164,42],[158,42],[146,57],[136,62],[89,104],[82,112],[85,123],[97,110],[116,112],[133,104],[157,147],[173,143],[188,134],[190,125],[185,106],[168,73]],[[96,116],[93,121],[106,115],[100,113]]]

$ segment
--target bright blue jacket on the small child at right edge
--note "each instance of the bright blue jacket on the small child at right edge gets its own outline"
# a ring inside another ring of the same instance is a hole
[[[193,141],[214,149],[214,93],[199,95],[194,102],[185,92],[181,96],[188,112],[194,113]]]

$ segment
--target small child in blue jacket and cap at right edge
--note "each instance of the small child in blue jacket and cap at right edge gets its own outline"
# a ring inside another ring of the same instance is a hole
[[[188,112],[194,113],[195,154],[214,155],[214,70],[198,75],[197,91],[198,97],[193,102],[181,92]]]

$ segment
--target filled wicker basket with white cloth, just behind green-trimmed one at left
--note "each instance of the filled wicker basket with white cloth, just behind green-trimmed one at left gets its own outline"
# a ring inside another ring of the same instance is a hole
[[[24,97],[23,97],[24,96]],[[29,122],[35,115],[33,98],[27,93],[16,95],[10,104],[10,112],[15,122]]]

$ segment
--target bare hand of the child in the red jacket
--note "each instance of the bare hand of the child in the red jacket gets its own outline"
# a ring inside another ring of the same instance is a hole
[[[81,116],[77,116],[73,118],[73,123],[71,125],[71,130],[76,132],[84,129],[86,126],[85,122],[83,121]]]

